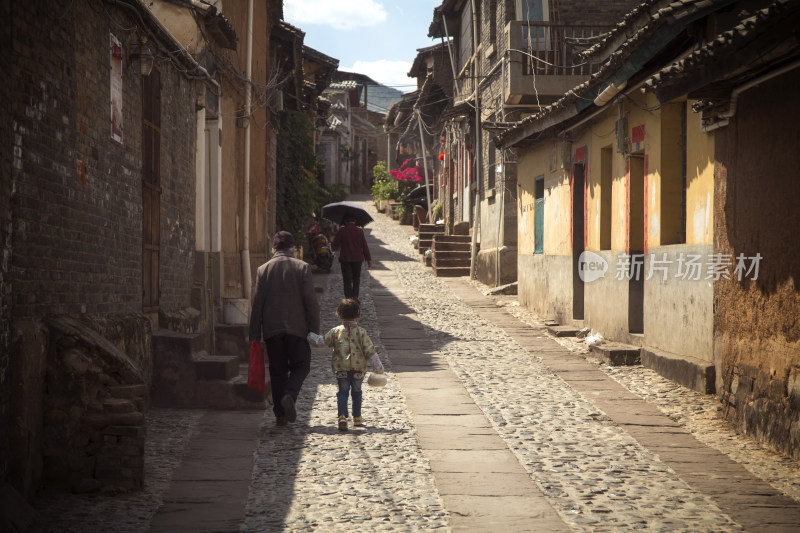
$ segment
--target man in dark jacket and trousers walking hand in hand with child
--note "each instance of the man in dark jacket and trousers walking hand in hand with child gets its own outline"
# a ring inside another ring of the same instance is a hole
[[[258,267],[250,341],[267,348],[272,382],[272,410],[278,425],[297,419],[295,401],[311,370],[311,347],[306,337],[319,332],[319,303],[311,268],[294,257],[294,237],[279,231],[272,259]]]

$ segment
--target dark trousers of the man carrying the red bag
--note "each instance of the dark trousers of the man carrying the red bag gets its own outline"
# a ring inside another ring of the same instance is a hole
[[[311,371],[311,347],[303,337],[275,335],[266,340],[269,379],[272,387],[272,411],[285,416],[281,399],[288,394],[297,399],[306,376]]]

